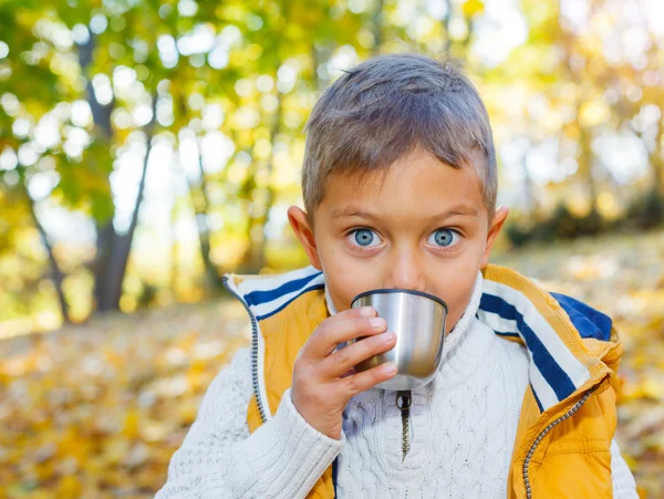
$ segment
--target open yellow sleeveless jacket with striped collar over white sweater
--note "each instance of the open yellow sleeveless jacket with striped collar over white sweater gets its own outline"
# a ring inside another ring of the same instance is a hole
[[[611,498],[621,355],[611,320],[513,270],[489,264],[483,277],[478,319],[500,337],[523,344],[530,356],[508,497]],[[298,352],[329,316],[323,273],[307,267],[278,276],[227,274],[224,282],[251,319],[253,397],[247,423],[255,432],[277,412]],[[334,497],[332,468],[310,498]]]

